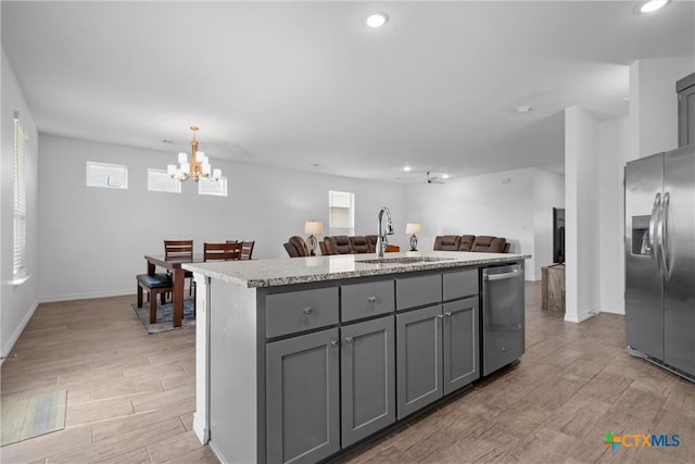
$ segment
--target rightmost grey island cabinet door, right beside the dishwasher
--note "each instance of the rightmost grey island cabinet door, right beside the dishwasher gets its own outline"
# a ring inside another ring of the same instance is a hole
[[[480,377],[478,297],[444,304],[444,394]]]

